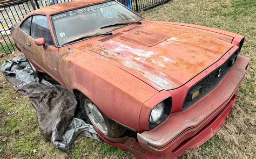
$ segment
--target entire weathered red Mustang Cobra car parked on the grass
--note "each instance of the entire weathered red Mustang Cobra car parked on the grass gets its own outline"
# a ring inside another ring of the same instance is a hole
[[[140,156],[177,156],[211,138],[250,61],[241,35],[150,21],[118,2],[42,8],[12,37],[36,74],[79,98],[105,141]]]

